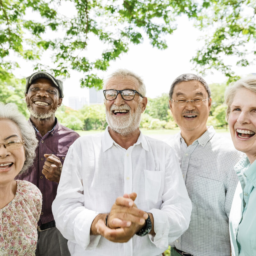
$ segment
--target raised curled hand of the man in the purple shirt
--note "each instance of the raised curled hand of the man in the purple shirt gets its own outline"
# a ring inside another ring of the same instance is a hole
[[[59,183],[62,171],[60,158],[54,154],[44,154],[44,157],[46,161],[44,162],[42,173],[47,180]]]

